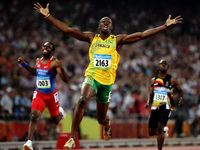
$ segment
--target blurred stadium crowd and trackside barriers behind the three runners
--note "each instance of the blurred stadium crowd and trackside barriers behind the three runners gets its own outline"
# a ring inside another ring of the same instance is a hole
[[[95,120],[95,100],[88,104],[78,135],[80,144],[85,148],[112,147],[116,143],[121,147],[155,146],[156,140],[147,134],[149,112],[144,109],[144,104],[156,64],[160,58],[166,58],[171,63],[170,73],[184,90],[185,100],[183,108],[176,108],[169,120],[170,133],[166,145],[196,145],[195,149],[200,148],[198,0],[38,1],[44,6],[50,2],[51,14],[83,31],[95,32],[103,16],[113,19],[113,33],[118,34],[144,31],[163,24],[169,14],[172,17],[181,15],[184,18],[181,25],[142,42],[124,46],[119,51],[121,60],[108,112],[112,119],[114,140],[107,144],[100,140],[101,127]],[[56,44],[55,55],[62,60],[71,76],[68,85],[57,80],[60,104],[66,111],[66,117],[54,128],[48,122],[48,111],[45,111],[34,137],[36,149],[43,149],[45,145],[49,146],[46,149],[53,149],[59,133],[70,131],[71,114],[88,64],[88,45],[49,25],[33,11],[34,2],[0,2],[0,150],[20,149],[27,137],[35,79],[17,65],[19,56],[24,56],[33,65],[41,54],[41,44],[52,41]]]

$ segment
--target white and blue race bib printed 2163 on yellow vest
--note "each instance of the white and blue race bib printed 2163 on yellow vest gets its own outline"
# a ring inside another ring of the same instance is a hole
[[[95,54],[94,55],[94,67],[98,68],[110,68],[111,55]]]

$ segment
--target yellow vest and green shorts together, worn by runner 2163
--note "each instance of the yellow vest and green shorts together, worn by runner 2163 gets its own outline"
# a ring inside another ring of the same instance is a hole
[[[100,35],[96,34],[89,48],[90,63],[85,72],[83,86],[92,86],[99,103],[109,103],[111,99],[112,85],[120,60],[116,47],[116,36],[110,35],[102,40]]]

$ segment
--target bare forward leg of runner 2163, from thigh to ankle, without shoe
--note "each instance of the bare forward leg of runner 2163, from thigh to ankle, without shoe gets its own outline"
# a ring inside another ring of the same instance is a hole
[[[89,84],[85,84],[81,89],[81,97],[78,101],[78,104],[75,106],[72,127],[71,127],[71,137],[74,138],[74,134],[77,131],[81,120],[83,119],[84,109],[87,102],[91,97],[95,96],[95,91]]]

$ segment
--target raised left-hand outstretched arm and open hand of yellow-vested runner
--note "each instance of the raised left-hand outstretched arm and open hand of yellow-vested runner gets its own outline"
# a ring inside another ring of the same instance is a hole
[[[56,28],[59,30],[69,34],[70,36],[81,40],[81,41],[86,41],[90,43],[90,39],[92,38],[94,34],[92,32],[82,32],[78,29],[69,27],[67,24],[64,22],[58,20],[57,18],[53,17],[50,12],[49,12],[49,3],[47,4],[46,8],[42,7],[40,3],[35,3],[34,4],[34,9],[42,14],[44,18],[46,18],[51,24],[53,24]]]

